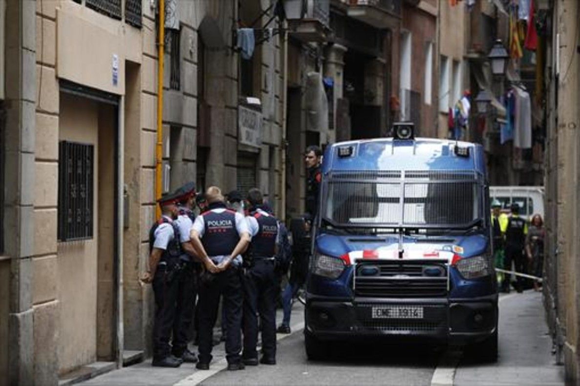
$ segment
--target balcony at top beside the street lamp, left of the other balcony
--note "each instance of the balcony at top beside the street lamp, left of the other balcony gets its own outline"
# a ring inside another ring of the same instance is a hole
[[[303,42],[324,42],[330,34],[330,0],[286,0],[289,34]]]

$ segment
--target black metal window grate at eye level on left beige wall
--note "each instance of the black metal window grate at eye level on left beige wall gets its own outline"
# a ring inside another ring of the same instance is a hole
[[[59,143],[59,241],[93,237],[93,145]]]

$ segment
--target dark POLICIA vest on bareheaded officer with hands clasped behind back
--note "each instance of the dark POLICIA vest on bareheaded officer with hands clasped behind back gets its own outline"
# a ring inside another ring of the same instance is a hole
[[[240,235],[235,228],[235,212],[226,209],[222,213],[209,210],[204,216],[204,236],[201,243],[208,256],[228,256],[238,245]]]

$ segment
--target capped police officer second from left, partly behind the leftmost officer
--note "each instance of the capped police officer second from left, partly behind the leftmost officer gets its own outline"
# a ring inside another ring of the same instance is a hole
[[[173,350],[172,354],[182,358],[183,362],[195,363],[197,357],[187,348],[190,339],[190,326],[195,309],[195,297],[197,296],[198,262],[195,251],[190,243],[190,232],[195,220],[193,208],[195,206],[195,184],[187,183],[175,191],[177,207],[177,219],[175,224],[179,228],[179,242],[182,247],[180,264],[182,266],[177,275],[177,299],[175,323],[173,324]]]

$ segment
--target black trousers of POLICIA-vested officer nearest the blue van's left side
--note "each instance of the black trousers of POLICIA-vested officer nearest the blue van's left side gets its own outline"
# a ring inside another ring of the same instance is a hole
[[[244,275],[244,358],[257,358],[258,314],[264,357],[276,359],[276,296],[273,260],[255,260]]]

